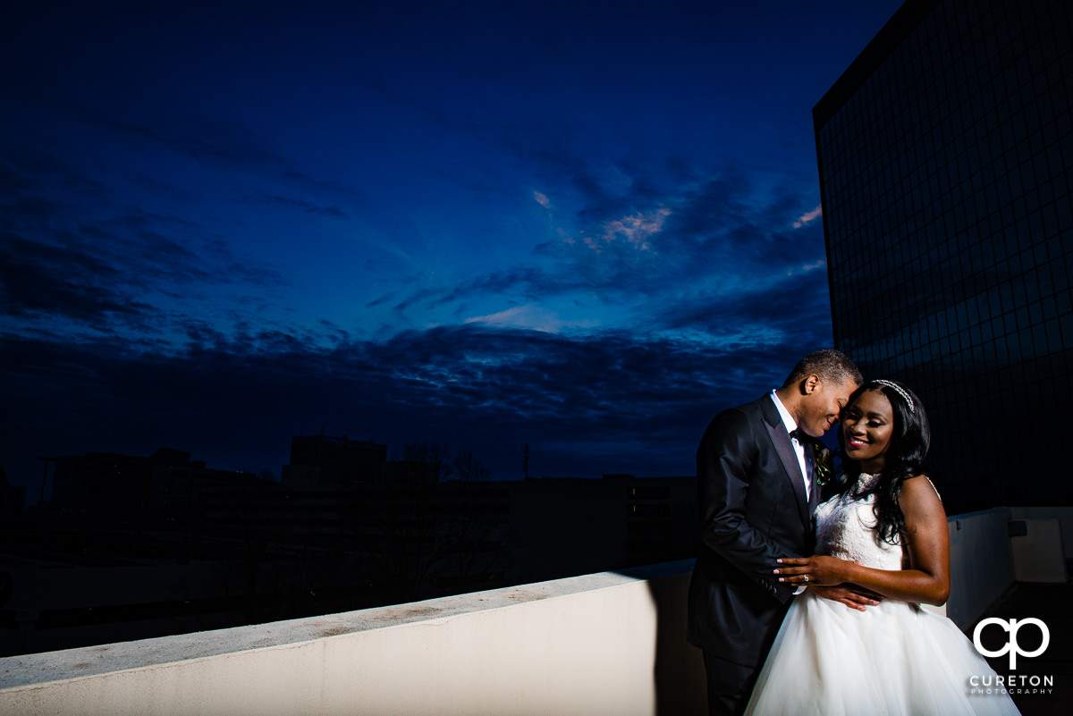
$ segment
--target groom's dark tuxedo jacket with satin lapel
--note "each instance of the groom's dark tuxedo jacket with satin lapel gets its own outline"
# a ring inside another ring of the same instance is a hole
[[[715,417],[696,452],[696,480],[702,546],[687,638],[759,666],[794,594],[773,573],[775,561],[812,554],[815,545],[800,466],[770,396]]]

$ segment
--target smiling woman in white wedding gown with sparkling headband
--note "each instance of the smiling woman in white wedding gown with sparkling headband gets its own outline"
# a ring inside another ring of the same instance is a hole
[[[866,383],[847,403],[839,441],[843,484],[817,508],[820,554],[779,560],[775,572],[883,599],[854,611],[811,590],[798,596],[747,716],[1018,714],[1005,693],[970,693],[972,675],[995,672],[953,622],[920,607],[950,593],[950,535],[924,472],[930,432],[920,400],[890,381]]]

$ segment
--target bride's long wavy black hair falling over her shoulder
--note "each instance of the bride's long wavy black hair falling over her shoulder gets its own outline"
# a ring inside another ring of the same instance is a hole
[[[854,492],[853,496],[876,495],[876,503],[872,506],[877,521],[876,529],[881,539],[894,545],[897,543],[900,535],[906,534],[906,516],[902,514],[898,503],[901,486],[910,477],[927,473],[924,458],[931,444],[931,429],[928,427],[928,416],[924,412],[921,400],[912,390],[900,383],[868,381],[853,391],[846,407],[849,408],[853,405],[857,398],[867,390],[878,390],[891,401],[894,413],[894,432],[891,435],[891,444],[883,456],[883,469],[880,472],[879,479],[870,488]],[[841,475],[839,475],[840,492],[844,494],[856,488],[856,478],[863,471],[855,460],[846,457],[841,428],[838,430],[838,452],[842,460]]]

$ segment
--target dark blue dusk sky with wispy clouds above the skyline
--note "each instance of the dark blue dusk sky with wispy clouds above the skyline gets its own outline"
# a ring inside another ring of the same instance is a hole
[[[680,475],[831,344],[811,108],[898,2],[19,3],[0,465]],[[35,489],[35,488],[34,488]]]

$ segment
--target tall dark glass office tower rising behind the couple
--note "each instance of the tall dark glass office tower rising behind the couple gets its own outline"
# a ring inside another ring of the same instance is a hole
[[[1073,504],[1073,3],[909,0],[813,108],[835,341],[949,512]]]

